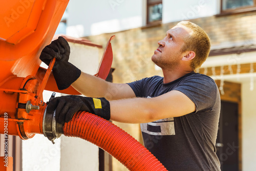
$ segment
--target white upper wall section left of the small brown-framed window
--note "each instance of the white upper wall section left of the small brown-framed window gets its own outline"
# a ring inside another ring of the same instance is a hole
[[[142,0],[70,1],[67,35],[82,37],[141,27],[142,4]]]

